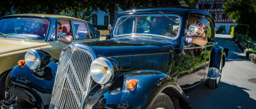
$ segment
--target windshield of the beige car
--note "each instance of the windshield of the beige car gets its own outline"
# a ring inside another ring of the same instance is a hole
[[[9,38],[44,40],[49,23],[49,19],[5,18],[0,21],[0,32]]]

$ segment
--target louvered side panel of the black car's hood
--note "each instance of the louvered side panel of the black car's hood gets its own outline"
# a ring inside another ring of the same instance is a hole
[[[124,56],[112,56],[120,67],[154,69],[166,72],[170,53],[146,53]]]

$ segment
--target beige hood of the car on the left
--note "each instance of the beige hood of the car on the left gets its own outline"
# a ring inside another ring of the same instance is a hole
[[[10,53],[13,51],[26,50],[29,48],[36,48],[41,46],[46,46],[45,41],[34,41],[28,39],[5,39],[0,38],[0,54]]]

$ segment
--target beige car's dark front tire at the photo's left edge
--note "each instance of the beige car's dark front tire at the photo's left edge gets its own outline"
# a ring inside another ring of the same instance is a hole
[[[0,75],[0,100],[5,100],[5,81],[9,71],[6,71]]]

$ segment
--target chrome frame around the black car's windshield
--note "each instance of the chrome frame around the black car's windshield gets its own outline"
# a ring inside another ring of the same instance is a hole
[[[175,14],[175,13],[164,13],[166,16],[176,16],[177,18],[179,18],[179,30],[178,30],[178,33],[177,33],[177,35],[174,37],[174,38],[171,38],[171,37],[169,37],[169,36],[162,36],[162,35],[155,35],[155,34],[147,34],[147,33],[130,33],[130,34],[123,34],[123,35],[115,35],[115,32],[116,32],[116,30],[117,30],[117,28],[118,28],[118,25],[119,24],[117,24],[117,23],[115,23],[115,26],[114,26],[114,28],[113,28],[113,31],[112,31],[112,33],[113,33],[113,37],[114,38],[118,38],[118,37],[122,37],[122,36],[157,36],[157,37],[161,37],[161,38],[167,38],[167,39],[172,39],[172,40],[174,40],[174,39],[177,39],[177,38],[179,38],[179,35],[180,35],[180,30],[181,30],[181,25],[182,25],[182,19],[181,19],[181,17],[179,16],[179,15],[177,15],[177,14]],[[140,14],[140,15],[123,15],[123,16],[119,16],[119,18],[118,19],[116,19],[116,22],[118,22],[119,20],[120,20],[120,18],[134,18],[134,16],[163,16],[163,15],[161,15],[160,13],[154,13],[154,14],[150,14],[150,13],[146,13],[146,14]],[[163,17],[165,17],[165,16],[163,16]],[[168,18],[166,18],[166,19],[168,19]],[[169,19],[168,19],[169,20]],[[133,25],[133,27],[132,27],[132,29],[134,30],[134,25]],[[133,31],[132,30],[132,31]]]

